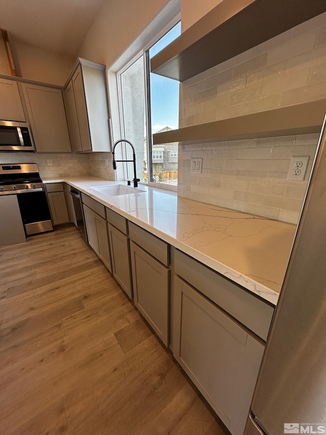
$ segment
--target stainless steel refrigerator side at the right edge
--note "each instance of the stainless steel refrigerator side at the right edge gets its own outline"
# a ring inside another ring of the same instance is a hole
[[[265,433],[326,433],[325,121],[244,430]]]

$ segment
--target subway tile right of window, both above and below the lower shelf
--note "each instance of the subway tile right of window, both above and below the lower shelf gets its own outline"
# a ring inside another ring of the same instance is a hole
[[[179,127],[326,97],[326,13],[180,85]],[[296,223],[318,134],[179,145],[178,195]],[[309,156],[304,181],[287,180]],[[202,174],[190,159],[203,159]]]

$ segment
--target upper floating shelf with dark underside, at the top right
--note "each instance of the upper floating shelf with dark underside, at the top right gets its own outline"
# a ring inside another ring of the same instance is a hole
[[[326,11],[325,0],[223,0],[151,59],[183,82]]]

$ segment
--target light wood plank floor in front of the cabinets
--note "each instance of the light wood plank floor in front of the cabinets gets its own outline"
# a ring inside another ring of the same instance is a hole
[[[228,433],[75,227],[0,248],[1,435]]]

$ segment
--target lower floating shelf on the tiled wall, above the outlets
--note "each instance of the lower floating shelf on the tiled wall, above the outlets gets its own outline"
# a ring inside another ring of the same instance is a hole
[[[153,145],[320,133],[326,99],[153,134]]]

